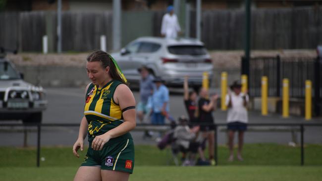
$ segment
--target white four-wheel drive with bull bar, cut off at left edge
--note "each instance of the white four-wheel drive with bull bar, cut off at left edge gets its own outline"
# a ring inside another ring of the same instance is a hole
[[[22,74],[0,52],[0,120],[40,123],[47,108],[45,90],[23,81]]]

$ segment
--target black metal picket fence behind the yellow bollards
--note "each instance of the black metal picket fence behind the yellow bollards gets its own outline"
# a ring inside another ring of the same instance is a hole
[[[261,96],[262,76],[268,77],[268,96],[280,97],[282,80],[289,79],[289,96],[305,97],[305,81],[311,80],[313,86],[314,112],[319,115],[322,100],[322,60],[320,57],[255,57],[249,65],[242,57],[242,72],[249,76],[249,94]]]

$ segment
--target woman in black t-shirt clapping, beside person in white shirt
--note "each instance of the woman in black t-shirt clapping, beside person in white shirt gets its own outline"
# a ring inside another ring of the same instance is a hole
[[[215,150],[215,126],[213,118],[213,111],[216,109],[218,95],[212,95],[209,99],[209,91],[205,88],[200,90],[200,99],[198,101],[199,123],[201,123],[200,130],[203,137],[208,139],[209,159],[211,165],[215,165],[214,150]],[[203,125],[210,124],[210,125]]]

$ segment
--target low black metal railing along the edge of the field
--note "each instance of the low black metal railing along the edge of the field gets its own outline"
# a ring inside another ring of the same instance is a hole
[[[205,124],[206,125],[206,124]],[[209,125],[209,124],[207,124]],[[225,123],[221,124],[211,124],[215,126],[215,164],[218,165],[218,127],[227,126]],[[40,140],[41,140],[41,129],[42,127],[79,127],[79,124],[0,124],[1,126],[10,126],[10,127],[37,127],[37,167],[40,167]],[[164,129],[164,126],[168,126],[170,129],[171,125],[149,125],[149,124],[137,124],[137,128],[139,127],[162,127]],[[254,124],[250,123],[248,124],[249,127],[263,127],[263,126],[270,126],[270,127],[279,127],[279,126],[287,126],[287,127],[298,127],[300,128],[300,145],[301,145],[301,166],[304,166],[304,127],[312,127],[312,126],[318,126],[322,127],[322,124],[320,123],[262,123],[262,124]]]

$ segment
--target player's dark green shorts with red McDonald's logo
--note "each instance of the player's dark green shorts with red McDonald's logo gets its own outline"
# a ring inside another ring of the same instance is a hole
[[[134,144],[133,139],[124,139],[119,142],[104,145],[102,150],[93,150],[92,142],[81,166],[96,166],[102,170],[115,170],[133,173]]]

